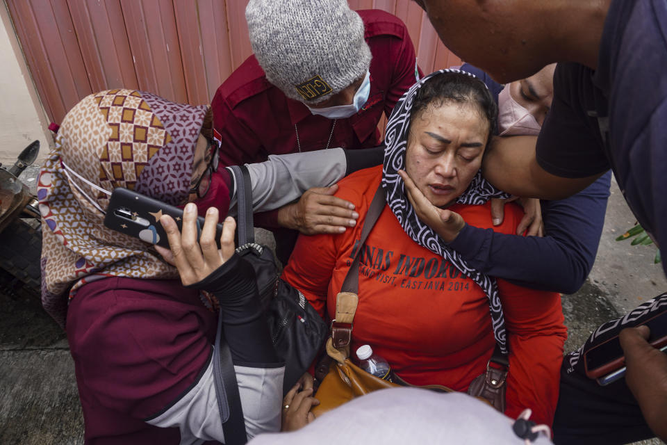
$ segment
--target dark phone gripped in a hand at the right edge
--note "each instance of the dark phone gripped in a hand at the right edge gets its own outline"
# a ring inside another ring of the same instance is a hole
[[[648,342],[655,348],[667,345],[667,310],[649,318],[641,325],[651,330]],[[584,352],[584,369],[588,378],[602,378],[625,366],[623,348],[618,336],[593,346]]]

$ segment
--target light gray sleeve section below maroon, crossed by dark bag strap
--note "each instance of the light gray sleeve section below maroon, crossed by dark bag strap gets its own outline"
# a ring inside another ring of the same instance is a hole
[[[279,431],[285,368],[234,366],[234,371],[248,439],[262,432]],[[181,445],[209,440],[224,443],[213,382],[213,362],[209,362],[199,382],[179,401],[147,423],[160,428],[178,427]]]

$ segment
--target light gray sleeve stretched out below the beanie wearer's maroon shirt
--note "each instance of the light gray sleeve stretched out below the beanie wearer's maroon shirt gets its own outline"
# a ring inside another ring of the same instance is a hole
[[[247,164],[252,183],[255,213],[279,209],[297,200],[308,188],[328,187],[345,176],[345,150],[330,148],[315,152],[272,154],[268,161]],[[236,184],[229,213],[236,215]]]

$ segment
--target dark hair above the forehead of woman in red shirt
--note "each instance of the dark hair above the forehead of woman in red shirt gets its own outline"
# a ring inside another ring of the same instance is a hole
[[[410,125],[429,106],[440,107],[447,102],[471,104],[488,122],[488,138],[491,142],[498,118],[498,106],[486,85],[465,72],[443,72],[425,81],[413,100]]]

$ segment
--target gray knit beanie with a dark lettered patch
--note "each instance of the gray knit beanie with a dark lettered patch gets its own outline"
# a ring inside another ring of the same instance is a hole
[[[318,104],[361,79],[370,48],[346,0],[250,0],[252,50],[287,97]]]

